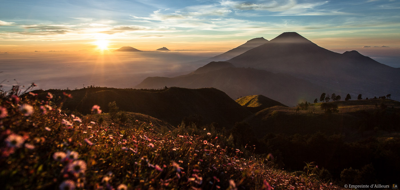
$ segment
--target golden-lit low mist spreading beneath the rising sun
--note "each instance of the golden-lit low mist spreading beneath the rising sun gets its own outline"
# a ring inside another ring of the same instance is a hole
[[[133,88],[149,76],[177,76],[203,66],[188,63],[220,52],[8,52],[0,54],[4,90],[16,81],[35,89],[84,86]],[[14,79],[16,81],[14,81]]]

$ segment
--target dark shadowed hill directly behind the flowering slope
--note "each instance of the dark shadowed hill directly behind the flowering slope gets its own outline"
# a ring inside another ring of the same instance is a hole
[[[35,91],[39,96],[46,96],[47,92],[62,96],[60,90]],[[179,125],[182,120],[187,120],[201,124],[217,122],[222,126],[229,126],[250,115],[248,110],[215,88],[164,90],[85,88],[71,90],[68,93],[73,98],[64,103],[64,109],[88,114],[91,106],[97,104],[104,112],[108,112],[108,102],[115,101],[120,110],[146,114],[173,125]]]

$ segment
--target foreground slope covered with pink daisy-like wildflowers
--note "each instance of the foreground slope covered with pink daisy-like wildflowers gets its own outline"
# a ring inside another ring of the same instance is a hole
[[[128,189],[341,189],[273,169],[263,158],[242,157],[240,150],[225,146],[222,136],[206,134],[208,130],[168,131],[134,120],[120,126],[110,124],[107,114],[88,115],[80,123],[56,107],[43,113],[40,106],[46,104],[0,100],[8,112],[0,119],[0,184],[5,189],[58,189],[66,180],[78,189],[121,184]],[[32,114],[24,116],[20,105],[32,105]],[[100,116],[106,118],[103,124],[90,123]],[[12,135],[23,136],[20,146],[6,143]],[[79,156],[53,158],[67,151]],[[76,159],[86,170],[74,174],[69,166]]]

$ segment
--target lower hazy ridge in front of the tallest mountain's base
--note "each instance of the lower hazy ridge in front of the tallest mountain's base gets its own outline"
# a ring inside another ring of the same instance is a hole
[[[232,67],[173,78],[148,77],[135,88],[150,89],[163,88],[164,86],[213,87],[224,91],[233,99],[238,99],[240,96],[262,94],[286,105],[296,105],[299,100],[314,100],[325,89],[288,74],[275,74],[254,68]]]

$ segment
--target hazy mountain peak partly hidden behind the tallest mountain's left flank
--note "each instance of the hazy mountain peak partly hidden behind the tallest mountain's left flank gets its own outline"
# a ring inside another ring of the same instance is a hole
[[[266,42],[268,42],[268,40],[264,39],[263,37],[261,37],[261,38],[253,38],[251,40],[248,40],[246,43],[244,43],[244,44],[242,44],[242,45],[240,45],[240,46],[238,46],[236,48],[233,48],[232,50],[229,50],[229,51],[227,51],[227,52],[225,52],[223,54],[219,54],[219,55],[214,56],[212,58],[199,60],[199,61],[195,61],[195,62],[192,62],[192,63],[195,63],[195,64],[196,63],[203,63],[203,64],[205,64],[205,63],[209,63],[209,62],[212,62],[212,61],[226,61],[226,60],[228,60],[230,58],[233,58],[235,56],[238,56],[238,55],[240,55],[240,54],[242,54],[242,53],[244,53],[244,52],[246,52],[246,51],[248,51],[248,50],[250,50],[252,48],[255,48],[257,46],[265,44]]]

